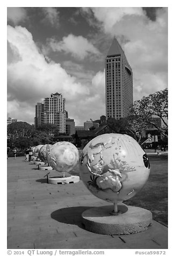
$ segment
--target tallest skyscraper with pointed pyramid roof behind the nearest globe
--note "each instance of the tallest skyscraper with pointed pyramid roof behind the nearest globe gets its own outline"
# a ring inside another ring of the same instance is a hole
[[[133,104],[133,72],[114,37],[105,59],[106,118],[128,116]]]

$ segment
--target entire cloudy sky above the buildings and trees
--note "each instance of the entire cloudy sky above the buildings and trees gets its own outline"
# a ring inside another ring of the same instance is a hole
[[[167,8],[9,7],[8,117],[65,97],[76,125],[105,115],[104,60],[113,36],[133,69],[134,100],[167,87]]]

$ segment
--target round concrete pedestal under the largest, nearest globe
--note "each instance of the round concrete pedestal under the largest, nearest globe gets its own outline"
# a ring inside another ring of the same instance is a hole
[[[118,204],[118,215],[112,215],[113,205],[95,207],[82,214],[85,229],[98,234],[132,234],[147,230],[152,214],[143,208]]]

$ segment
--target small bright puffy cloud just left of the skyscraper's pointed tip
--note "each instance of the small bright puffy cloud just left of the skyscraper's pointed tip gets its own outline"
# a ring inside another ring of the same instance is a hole
[[[74,58],[83,60],[88,55],[100,54],[98,49],[94,47],[91,42],[82,35],[76,36],[69,34],[67,37],[63,37],[63,40],[58,42],[51,38],[48,40],[48,45],[54,52],[65,52],[70,53]]]

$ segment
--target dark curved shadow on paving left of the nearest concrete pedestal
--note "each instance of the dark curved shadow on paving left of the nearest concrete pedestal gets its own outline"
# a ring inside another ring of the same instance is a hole
[[[66,224],[77,225],[84,229],[82,224],[82,213],[92,207],[68,207],[53,211],[50,215],[51,218],[55,219],[57,222],[62,222]]]

